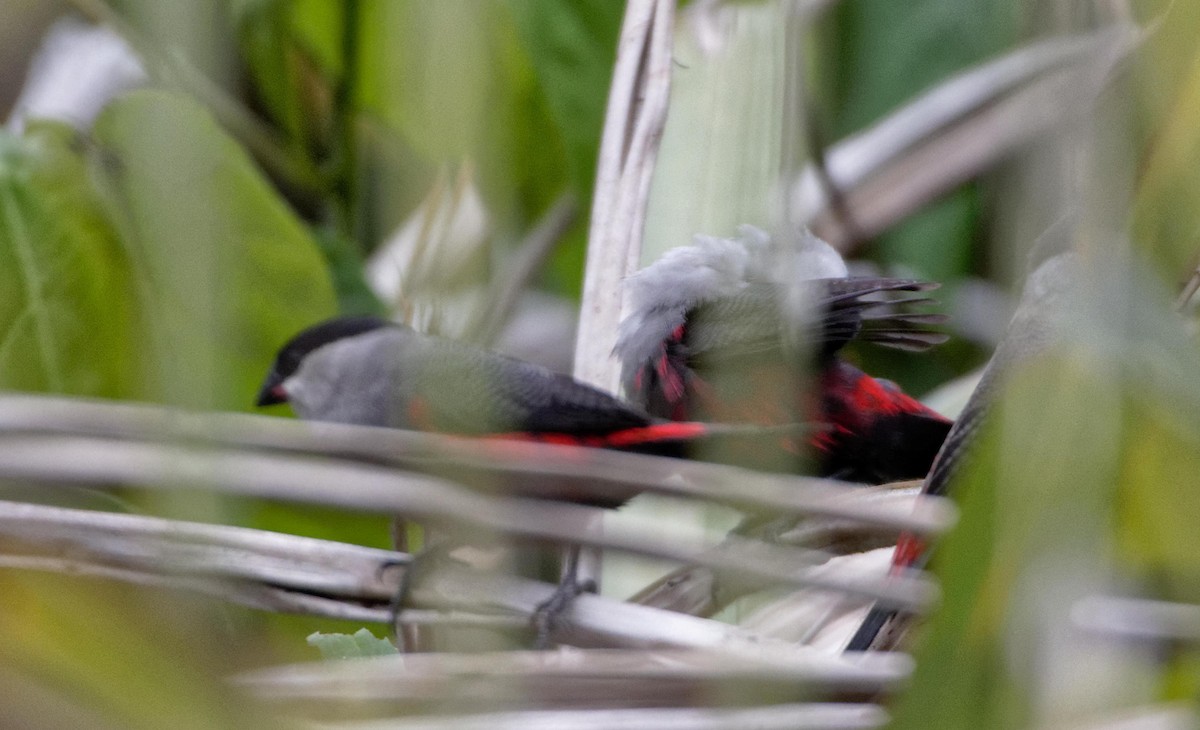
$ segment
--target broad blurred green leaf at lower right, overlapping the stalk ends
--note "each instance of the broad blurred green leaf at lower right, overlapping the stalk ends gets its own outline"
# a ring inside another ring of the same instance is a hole
[[[1126,650],[1072,621],[1078,600],[1114,590],[1122,437],[1114,371],[1076,355],[1013,373],[956,485],[961,521],[935,556],[944,600],[896,728],[1064,726],[1152,699]]]

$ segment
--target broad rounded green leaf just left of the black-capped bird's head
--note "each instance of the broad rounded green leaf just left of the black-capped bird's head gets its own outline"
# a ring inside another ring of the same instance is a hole
[[[335,311],[312,237],[208,113],[132,94],[96,124],[145,325],[142,395],[248,408],[281,342]]]

